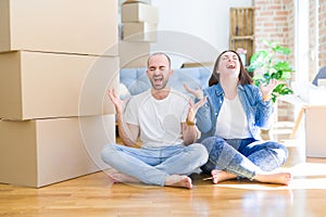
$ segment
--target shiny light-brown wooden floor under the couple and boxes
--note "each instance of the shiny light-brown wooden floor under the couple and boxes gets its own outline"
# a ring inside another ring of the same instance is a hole
[[[193,189],[113,184],[104,171],[40,189],[0,184],[0,216],[223,216],[326,217],[326,158],[285,166],[289,187],[249,181],[212,184],[193,176]]]

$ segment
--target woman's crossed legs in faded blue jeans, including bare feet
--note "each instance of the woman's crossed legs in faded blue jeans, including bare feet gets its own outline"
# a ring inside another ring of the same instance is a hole
[[[230,143],[228,143],[230,142]],[[275,171],[286,159],[287,151],[276,142],[249,140],[224,140],[211,137],[203,141],[210,158],[202,167],[211,173],[213,183],[244,177],[266,183],[289,184],[290,173]],[[243,149],[244,156],[238,149]],[[264,169],[264,170],[263,170]]]

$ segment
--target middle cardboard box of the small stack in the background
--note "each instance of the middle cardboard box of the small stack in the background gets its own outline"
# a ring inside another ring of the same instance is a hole
[[[124,23],[123,39],[128,41],[156,41],[156,24]]]

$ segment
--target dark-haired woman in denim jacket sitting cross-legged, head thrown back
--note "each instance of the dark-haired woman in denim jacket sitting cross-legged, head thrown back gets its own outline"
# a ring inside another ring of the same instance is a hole
[[[202,170],[212,175],[213,183],[235,178],[278,184],[291,181],[290,173],[275,171],[286,162],[287,149],[260,137],[260,128],[267,129],[271,124],[271,94],[276,86],[275,79],[260,88],[253,86],[233,50],[217,58],[209,88],[193,90],[185,85],[196,100],[206,98],[196,117],[200,141],[210,154]]]

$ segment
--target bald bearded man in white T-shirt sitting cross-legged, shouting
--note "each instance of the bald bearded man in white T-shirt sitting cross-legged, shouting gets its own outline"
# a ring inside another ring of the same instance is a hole
[[[205,98],[193,104],[189,98],[173,90],[167,86],[172,74],[168,55],[150,55],[147,76],[152,87],[133,97],[125,112],[115,90],[109,90],[124,145],[106,144],[101,156],[118,171],[111,175],[115,182],[191,189],[188,175],[206,163],[205,148],[195,143],[198,138],[195,115]],[[140,146],[136,143],[138,137]]]

